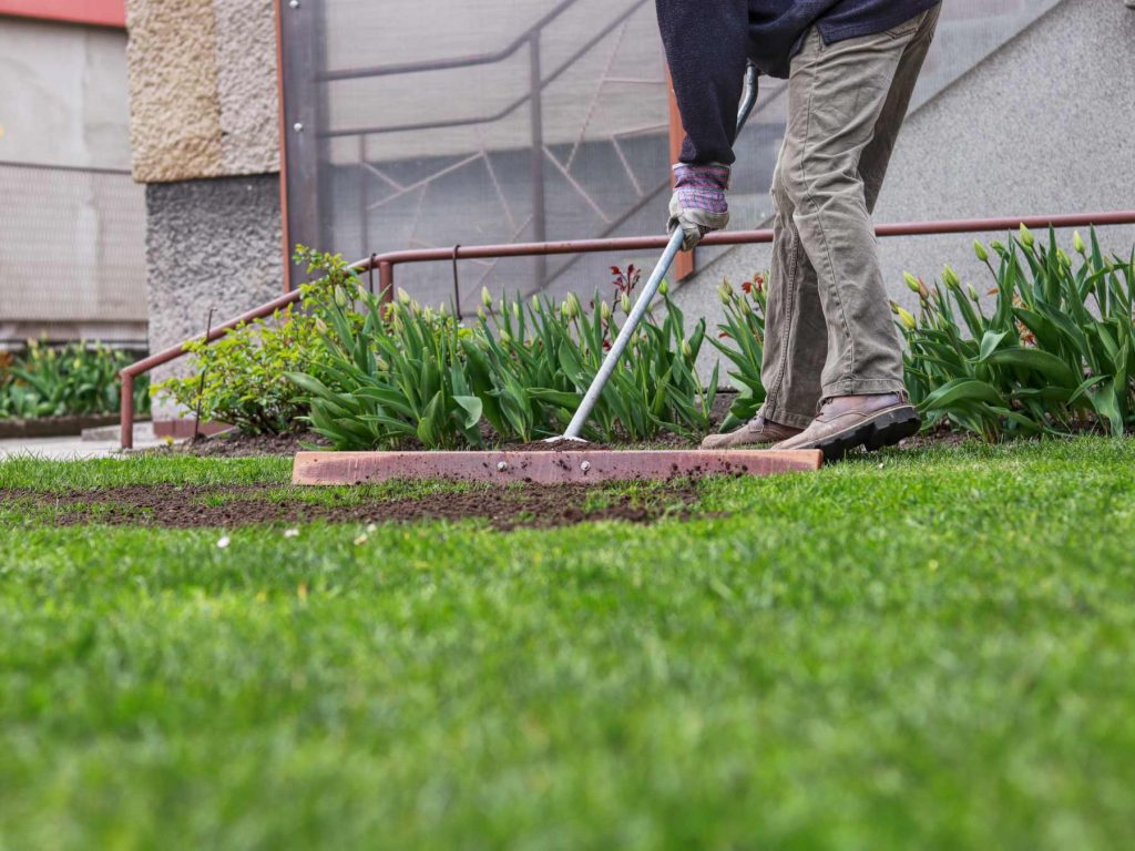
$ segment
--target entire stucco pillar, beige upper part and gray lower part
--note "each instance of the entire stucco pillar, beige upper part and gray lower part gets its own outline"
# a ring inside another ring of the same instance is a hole
[[[145,184],[150,348],[284,288],[272,0],[128,0],[131,144]],[[155,380],[185,374],[182,360]],[[155,419],[178,412],[155,406]]]

